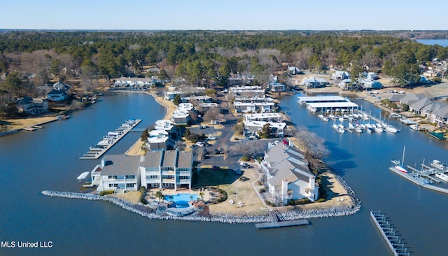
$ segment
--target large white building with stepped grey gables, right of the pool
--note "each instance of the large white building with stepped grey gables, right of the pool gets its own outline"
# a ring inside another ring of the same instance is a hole
[[[269,193],[282,204],[288,200],[318,199],[318,184],[303,153],[293,145],[277,143],[265,151],[261,169]]]

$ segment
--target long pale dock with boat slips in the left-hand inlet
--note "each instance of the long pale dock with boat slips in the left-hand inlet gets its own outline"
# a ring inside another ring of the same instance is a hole
[[[107,144],[101,145],[101,148],[90,148],[87,153],[85,153],[82,157],[79,157],[79,159],[98,159],[102,155],[104,155],[107,150],[113,147],[118,141],[120,141],[121,138],[123,138],[128,132],[130,132],[134,127],[139,125],[141,122],[141,119],[137,120],[125,120],[123,124],[116,129],[115,132],[112,132],[113,134],[117,134],[117,136],[113,137],[111,140],[107,141]],[[102,141],[100,141],[101,143]],[[99,143],[97,145],[100,145]]]

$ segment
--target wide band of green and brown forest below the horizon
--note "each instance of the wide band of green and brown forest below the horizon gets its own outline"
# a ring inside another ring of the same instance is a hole
[[[407,36],[403,36],[403,35]],[[399,35],[399,36],[397,36]],[[423,32],[419,33],[422,37]],[[36,97],[50,80],[85,90],[120,76],[183,78],[224,86],[235,74],[264,85],[282,64],[302,70],[369,69],[412,85],[419,64],[448,58],[448,48],[423,45],[391,31],[0,31],[0,100]]]

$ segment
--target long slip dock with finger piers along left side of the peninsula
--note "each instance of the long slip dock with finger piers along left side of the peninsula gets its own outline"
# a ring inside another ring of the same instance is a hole
[[[141,119],[125,120],[125,122],[123,122],[123,124],[120,125],[120,127],[118,127],[115,131],[109,131],[106,136],[103,136],[102,141],[99,141],[97,145],[92,145],[89,151],[87,151],[87,153],[82,157],[79,157],[79,159],[98,159],[134,127],[139,125],[140,122]]]

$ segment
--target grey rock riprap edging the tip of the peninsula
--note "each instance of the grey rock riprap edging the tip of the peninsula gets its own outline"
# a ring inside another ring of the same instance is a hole
[[[342,179],[342,177],[335,174],[336,179],[341,183],[347,191],[347,194],[353,201],[353,206],[335,206],[330,208],[318,208],[318,209],[306,209],[306,210],[292,210],[286,213],[281,213],[283,220],[299,220],[306,218],[329,218],[345,215],[353,215],[357,213],[360,208],[360,200],[356,197],[355,192],[351,190],[351,187]],[[48,197],[63,197],[70,199],[86,199],[94,201],[109,201],[112,204],[120,206],[127,211],[137,213],[145,218],[152,220],[187,220],[187,221],[203,221],[203,222],[222,222],[222,223],[260,223],[271,222],[272,220],[268,215],[256,215],[256,216],[236,216],[230,213],[227,214],[213,214],[207,217],[200,216],[198,212],[192,215],[184,217],[176,217],[166,214],[152,213],[152,209],[143,204],[130,204],[129,201],[125,201],[118,197],[104,197],[97,194],[85,194],[78,192],[59,192],[54,190],[43,190],[41,194]]]

